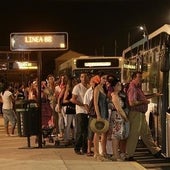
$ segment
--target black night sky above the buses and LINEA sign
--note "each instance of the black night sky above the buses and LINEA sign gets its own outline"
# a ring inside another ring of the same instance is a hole
[[[2,2],[1,2],[2,3]],[[87,55],[121,55],[130,42],[170,23],[166,0],[22,0],[0,5],[0,46],[12,32],[68,32],[69,49]],[[115,48],[116,41],[116,48]],[[116,49],[116,50],[115,50]]]

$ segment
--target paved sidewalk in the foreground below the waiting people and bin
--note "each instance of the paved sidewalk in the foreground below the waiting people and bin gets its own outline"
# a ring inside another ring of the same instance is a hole
[[[137,162],[99,162],[86,155],[76,155],[73,148],[57,148],[47,143],[37,148],[35,137],[28,147],[26,137],[7,137],[0,116],[1,170],[145,170]]]

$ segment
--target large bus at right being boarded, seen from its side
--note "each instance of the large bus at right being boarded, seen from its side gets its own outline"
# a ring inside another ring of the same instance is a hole
[[[130,81],[133,71],[142,71],[143,91],[146,94],[163,94],[150,99],[146,116],[155,142],[162,147],[165,156],[170,157],[170,122],[167,123],[170,107],[170,25],[165,24],[132,44],[123,50],[122,57],[124,83]]]

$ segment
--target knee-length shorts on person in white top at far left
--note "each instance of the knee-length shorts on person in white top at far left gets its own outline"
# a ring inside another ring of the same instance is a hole
[[[14,110],[2,109],[2,113],[3,113],[3,118],[4,118],[4,126],[7,127],[8,123],[10,122],[11,126],[15,127],[17,120],[15,117]]]

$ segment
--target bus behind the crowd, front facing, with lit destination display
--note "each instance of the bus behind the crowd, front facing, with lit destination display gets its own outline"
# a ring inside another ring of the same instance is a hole
[[[121,80],[123,58],[121,56],[80,56],[72,58],[58,67],[58,75],[79,77],[80,73],[95,75],[100,72],[113,74]]]

